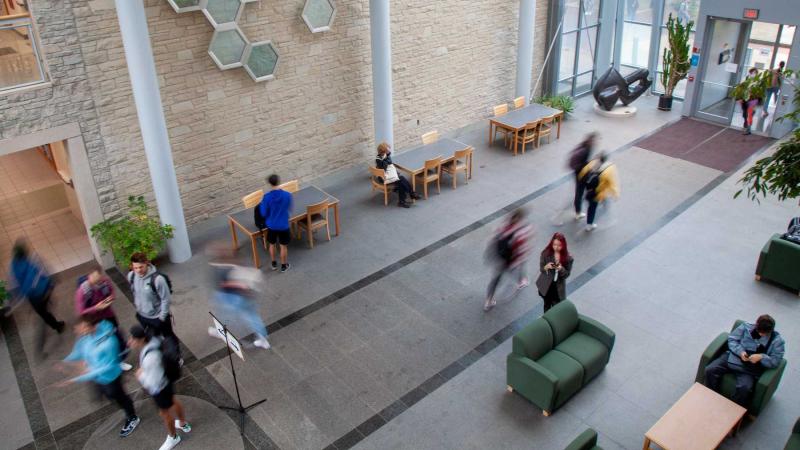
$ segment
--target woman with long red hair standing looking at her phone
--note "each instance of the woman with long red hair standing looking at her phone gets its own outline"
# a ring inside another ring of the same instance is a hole
[[[566,280],[572,271],[572,261],[567,250],[567,238],[561,233],[554,234],[539,257],[540,273],[536,280],[539,295],[544,299],[545,312],[567,298]]]

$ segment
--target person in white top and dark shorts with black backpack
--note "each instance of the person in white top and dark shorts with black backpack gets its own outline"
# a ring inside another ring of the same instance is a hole
[[[167,439],[159,450],[170,450],[181,442],[177,430],[184,433],[192,431],[192,426],[186,421],[183,405],[175,397],[174,382],[180,377],[180,367],[177,366],[174,356],[168,356],[170,352],[164,346],[165,341],[154,336],[151,330],[145,331],[141,326],[134,325],[130,334],[128,345],[139,350],[136,378],[153,397],[158,415],[167,428]]]

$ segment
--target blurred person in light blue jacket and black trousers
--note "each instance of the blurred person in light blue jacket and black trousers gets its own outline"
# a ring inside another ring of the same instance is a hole
[[[106,398],[125,411],[125,423],[119,432],[120,437],[125,437],[139,425],[139,417],[133,401],[122,387],[121,346],[116,328],[108,320],[98,320],[97,317],[85,315],[75,324],[78,340],[64,361],[79,364],[84,371],[61,383],[61,386],[78,382],[94,384]]]

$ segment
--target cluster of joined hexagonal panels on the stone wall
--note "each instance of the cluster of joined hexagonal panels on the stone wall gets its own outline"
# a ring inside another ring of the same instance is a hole
[[[177,13],[202,11],[214,27],[208,55],[221,70],[244,67],[253,81],[275,78],[278,52],[270,41],[250,42],[239,28],[244,5],[256,0],[167,0]]]

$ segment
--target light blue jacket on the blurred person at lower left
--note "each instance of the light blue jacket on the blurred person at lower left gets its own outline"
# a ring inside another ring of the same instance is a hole
[[[72,381],[94,381],[98,384],[108,384],[116,380],[122,373],[119,366],[120,343],[114,333],[114,325],[102,320],[97,324],[94,333],[81,336],[72,353],[64,361],[84,361],[87,371],[77,376]]]

